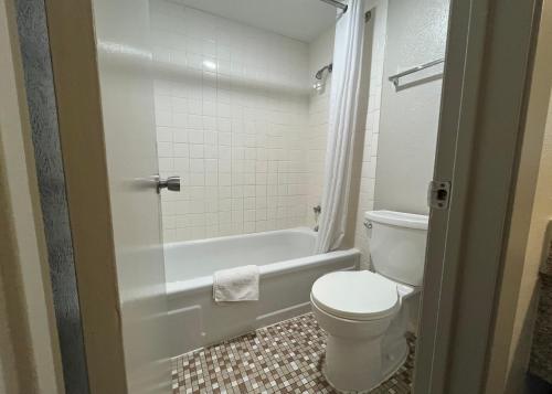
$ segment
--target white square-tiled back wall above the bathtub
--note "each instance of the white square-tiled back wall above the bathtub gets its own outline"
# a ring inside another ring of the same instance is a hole
[[[307,43],[153,0],[164,241],[307,224]]]

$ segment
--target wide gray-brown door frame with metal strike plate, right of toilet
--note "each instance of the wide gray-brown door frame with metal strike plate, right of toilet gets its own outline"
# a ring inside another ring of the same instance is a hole
[[[416,350],[416,394],[480,393],[508,237],[540,0],[453,0]]]

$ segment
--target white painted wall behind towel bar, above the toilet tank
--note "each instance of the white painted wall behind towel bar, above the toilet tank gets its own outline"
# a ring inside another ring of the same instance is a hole
[[[382,113],[378,143],[375,207],[427,213],[433,178],[442,66],[401,79],[388,76],[442,58],[447,36],[447,0],[390,0]],[[424,78],[427,78],[424,81]]]

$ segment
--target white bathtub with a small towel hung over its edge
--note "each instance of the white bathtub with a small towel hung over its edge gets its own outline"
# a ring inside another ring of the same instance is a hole
[[[291,228],[167,244],[172,355],[308,312],[312,283],[357,268],[360,258],[357,249],[314,255],[315,238],[309,228]],[[259,266],[259,300],[215,304],[213,273],[250,264]]]

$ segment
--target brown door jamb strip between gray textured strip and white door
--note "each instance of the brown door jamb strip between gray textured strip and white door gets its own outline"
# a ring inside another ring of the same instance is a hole
[[[92,0],[44,4],[89,392],[127,393]]]

